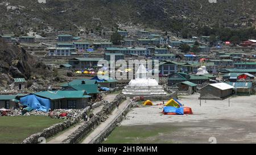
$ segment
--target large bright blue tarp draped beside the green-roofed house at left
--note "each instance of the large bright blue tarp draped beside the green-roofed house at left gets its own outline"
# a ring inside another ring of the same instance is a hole
[[[20,98],[22,105],[31,107],[33,110],[47,112],[51,108],[51,101],[37,97],[36,95],[27,95],[26,97]]]

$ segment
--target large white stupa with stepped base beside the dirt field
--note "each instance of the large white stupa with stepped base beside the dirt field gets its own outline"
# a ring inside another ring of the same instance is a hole
[[[147,69],[140,65],[137,70],[137,77],[129,82],[122,93],[126,97],[166,95],[162,86],[158,85],[155,79],[148,78]]]

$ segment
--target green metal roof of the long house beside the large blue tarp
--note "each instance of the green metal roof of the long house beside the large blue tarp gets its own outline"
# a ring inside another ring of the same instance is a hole
[[[90,95],[84,95],[85,91],[41,91],[35,93],[39,97],[48,99],[65,99],[65,98],[90,98]]]

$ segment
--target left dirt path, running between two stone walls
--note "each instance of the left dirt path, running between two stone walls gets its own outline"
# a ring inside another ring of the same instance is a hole
[[[94,108],[93,110],[93,114],[97,114],[98,112],[101,111],[103,106]],[[81,127],[81,125],[84,124],[84,122],[79,123],[77,125],[75,125],[75,127],[71,127],[69,129],[67,129],[67,131],[65,131],[64,133],[61,133],[60,135],[57,135],[56,137],[52,137],[51,140],[49,140],[47,143],[48,144],[60,144],[63,140],[67,139],[67,137],[69,135],[71,135],[74,131],[76,131],[76,129],[78,129],[79,127]]]

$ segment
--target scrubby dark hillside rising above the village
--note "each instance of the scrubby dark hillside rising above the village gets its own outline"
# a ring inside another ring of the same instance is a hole
[[[255,24],[256,5],[249,0],[2,0],[0,28],[4,32],[93,28],[116,24],[179,31],[200,26],[248,27]]]

